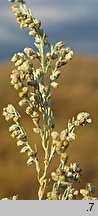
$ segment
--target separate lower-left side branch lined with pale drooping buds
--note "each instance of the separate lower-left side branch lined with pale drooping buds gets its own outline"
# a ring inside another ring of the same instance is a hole
[[[21,153],[27,152],[28,155],[27,165],[31,165],[34,159],[36,158],[37,150],[35,147],[35,150],[33,151],[28,144],[27,134],[18,122],[20,118],[19,113],[15,110],[15,108],[12,105],[8,105],[7,108],[3,109],[3,115],[7,121],[12,119],[15,122],[15,124],[9,127],[9,131],[11,132],[11,137],[16,138],[17,146],[22,147],[20,151]]]

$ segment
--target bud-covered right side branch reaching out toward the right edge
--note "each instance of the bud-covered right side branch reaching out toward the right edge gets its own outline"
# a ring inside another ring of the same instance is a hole
[[[69,145],[69,142],[76,140],[76,135],[74,133],[76,126],[84,126],[87,123],[91,123],[91,118],[88,113],[79,113],[75,118],[68,121],[68,128],[63,130],[60,134],[56,131],[52,132],[52,145],[56,146],[56,152],[60,155],[60,161],[66,163],[68,155],[66,149]]]

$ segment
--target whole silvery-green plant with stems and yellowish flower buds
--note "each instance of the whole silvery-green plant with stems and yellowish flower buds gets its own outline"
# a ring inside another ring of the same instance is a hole
[[[44,151],[43,169],[38,158],[37,145],[29,144],[27,134],[20,123],[20,114],[13,105],[9,104],[3,109],[3,115],[7,121],[13,121],[9,131],[12,138],[16,138],[17,146],[21,148],[20,153],[27,154],[27,165],[35,164],[39,182],[38,199],[72,200],[78,199],[79,194],[83,196],[82,199],[97,199],[93,197],[95,187],[90,183],[87,184],[86,189],[80,191],[74,187],[74,183],[80,182],[82,170],[78,162],[69,163],[67,154],[68,146],[77,138],[75,129],[91,123],[89,113],[82,112],[71,118],[67,128],[61,133],[53,130],[55,120],[51,109],[51,89],[58,88],[60,68],[71,61],[73,51],[69,47],[66,48],[63,41],[55,45],[49,42],[47,34],[41,28],[41,21],[32,15],[24,0],[9,0],[9,2],[18,3],[11,6],[11,10],[20,28],[28,28],[29,36],[34,37],[34,45],[37,48],[35,51],[32,47],[26,47],[24,53],[14,54],[11,61],[15,64],[15,68],[10,78],[11,84],[19,92],[19,106],[25,106],[25,111],[34,125],[33,131],[41,138]],[[39,68],[34,67],[34,60],[39,61]],[[46,83],[47,73],[49,73],[49,79]],[[60,159],[58,167],[48,178],[48,168],[57,154]],[[46,192],[49,183],[52,183],[51,191]],[[17,196],[10,199],[16,200]]]

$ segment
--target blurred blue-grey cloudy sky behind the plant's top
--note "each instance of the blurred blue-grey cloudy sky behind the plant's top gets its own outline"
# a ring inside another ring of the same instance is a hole
[[[27,0],[27,4],[52,43],[63,40],[76,53],[98,55],[98,0]],[[27,30],[20,30],[10,6],[0,0],[0,60],[33,44]]]

